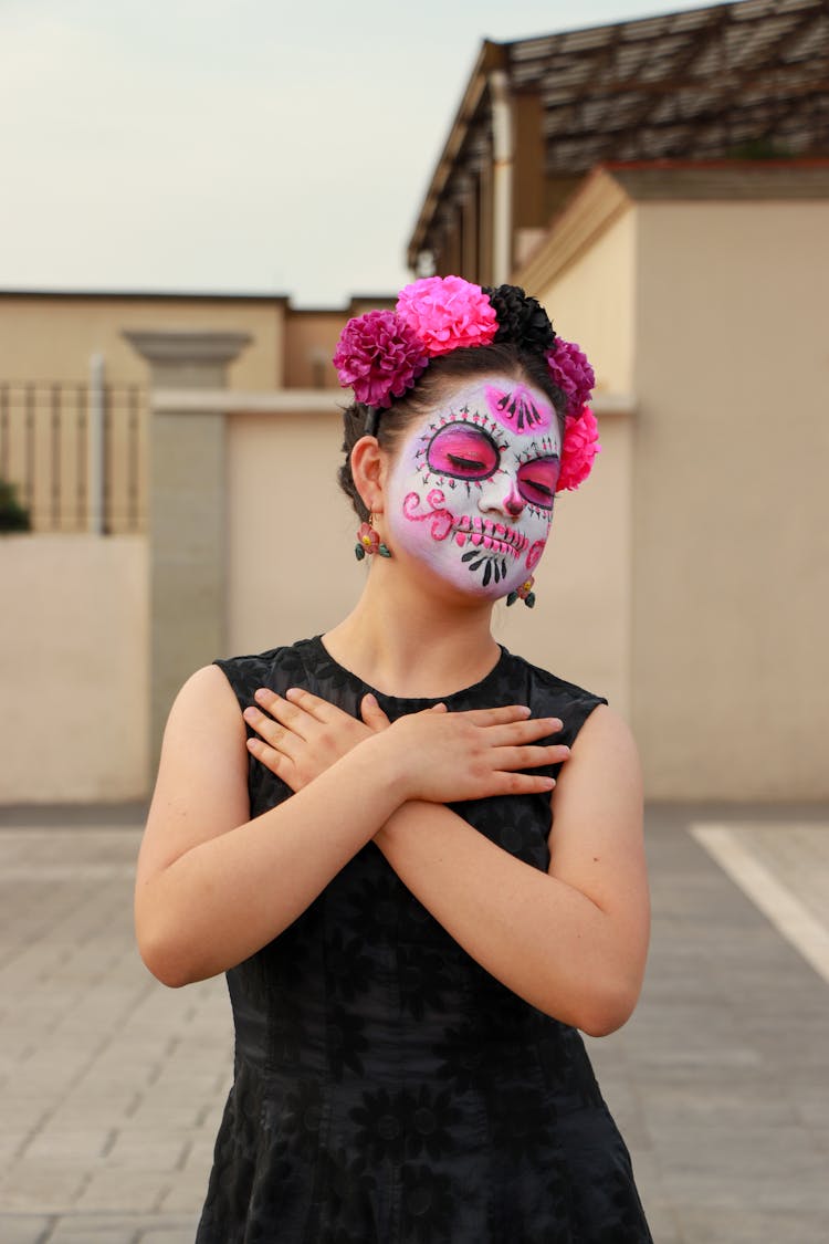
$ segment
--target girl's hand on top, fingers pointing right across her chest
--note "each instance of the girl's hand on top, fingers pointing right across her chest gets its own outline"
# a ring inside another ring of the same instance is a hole
[[[518,770],[567,760],[569,748],[538,745],[561,729],[558,718],[531,720],[523,704],[466,713],[429,709],[400,718],[372,746],[383,751],[383,769],[399,782],[403,801],[450,804],[552,790],[552,778]]]

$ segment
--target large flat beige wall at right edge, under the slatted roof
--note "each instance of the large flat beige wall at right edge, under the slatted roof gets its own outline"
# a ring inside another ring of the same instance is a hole
[[[634,720],[655,797],[829,796],[829,204],[638,208]]]

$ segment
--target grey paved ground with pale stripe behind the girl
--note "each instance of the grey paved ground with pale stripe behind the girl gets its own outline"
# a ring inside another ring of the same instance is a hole
[[[229,1009],[142,967],[137,825],[0,810],[2,1244],[193,1242]],[[654,807],[648,842],[643,1001],[590,1051],[656,1244],[827,1244],[829,809]]]

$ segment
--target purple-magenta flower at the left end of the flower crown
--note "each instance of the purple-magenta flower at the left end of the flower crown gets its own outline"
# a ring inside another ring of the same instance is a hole
[[[349,320],[334,351],[343,388],[350,386],[358,402],[377,407],[403,397],[428,362],[423,342],[394,311],[368,311]]]

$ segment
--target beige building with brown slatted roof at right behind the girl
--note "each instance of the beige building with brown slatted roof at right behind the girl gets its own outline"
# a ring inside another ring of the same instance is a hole
[[[534,621],[651,797],[829,795],[828,157],[824,0],[485,42],[409,243],[595,364]]]

